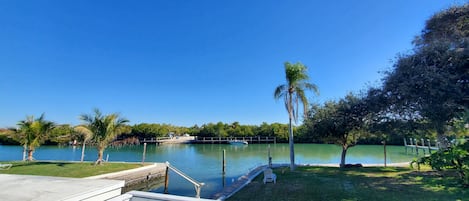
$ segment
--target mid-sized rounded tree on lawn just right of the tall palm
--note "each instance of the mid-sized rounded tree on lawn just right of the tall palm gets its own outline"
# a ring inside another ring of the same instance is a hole
[[[342,147],[340,167],[345,167],[347,150],[355,146],[365,132],[367,115],[368,109],[363,99],[348,94],[338,102],[313,105],[304,124],[315,136]]]

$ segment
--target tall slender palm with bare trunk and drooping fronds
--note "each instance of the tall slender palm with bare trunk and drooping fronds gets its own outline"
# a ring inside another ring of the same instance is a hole
[[[292,121],[298,122],[298,107],[302,103],[304,115],[308,110],[308,99],[305,91],[311,90],[315,94],[319,94],[318,87],[315,84],[308,83],[309,76],[306,74],[307,67],[300,62],[291,64],[285,62],[286,84],[279,85],[275,88],[274,98],[276,100],[283,97],[285,108],[289,117],[289,138],[290,144],[290,170],[295,170],[295,151],[293,142],[293,125]]]

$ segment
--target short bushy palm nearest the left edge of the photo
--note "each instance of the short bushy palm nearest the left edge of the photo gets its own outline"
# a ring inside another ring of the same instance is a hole
[[[21,145],[24,147],[24,153],[27,152],[27,160],[32,161],[34,160],[34,150],[36,147],[41,146],[47,138],[47,134],[54,128],[55,124],[45,120],[44,114],[42,114],[37,119],[34,119],[34,116],[27,116],[25,120],[19,121],[16,125],[18,125],[18,129],[13,130],[17,134]]]

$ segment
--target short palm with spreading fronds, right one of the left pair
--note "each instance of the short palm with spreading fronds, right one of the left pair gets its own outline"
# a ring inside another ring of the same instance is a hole
[[[80,119],[85,125],[77,126],[75,130],[84,135],[92,136],[91,139],[96,143],[98,149],[98,159],[95,164],[99,165],[103,162],[104,149],[125,131],[125,123],[129,120],[120,118],[116,113],[102,115],[99,109],[94,109],[94,116],[83,114]]]

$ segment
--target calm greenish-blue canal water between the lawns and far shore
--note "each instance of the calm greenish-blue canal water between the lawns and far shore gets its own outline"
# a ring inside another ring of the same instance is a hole
[[[273,163],[289,163],[288,144],[270,145]],[[222,175],[222,153],[226,150],[226,175]],[[21,160],[23,150],[20,146],[0,145],[0,161]],[[104,156],[109,161],[141,162],[143,146],[107,148]],[[318,164],[340,162],[341,148],[335,145],[295,144],[297,164]],[[202,197],[210,197],[220,191],[223,185],[230,185],[241,175],[258,165],[267,164],[268,145],[226,145],[226,144],[168,144],[148,145],[146,162],[170,162],[199,182],[204,182]],[[85,160],[96,159],[96,149],[87,147]],[[79,161],[81,147],[41,146],[34,153],[36,160]],[[387,162],[407,162],[415,156],[404,153],[403,146],[387,146]],[[383,163],[383,146],[361,145],[350,148],[347,152],[347,163]],[[162,184],[148,186],[152,192],[163,192]],[[171,174],[169,193],[194,196],[192,184]]]

